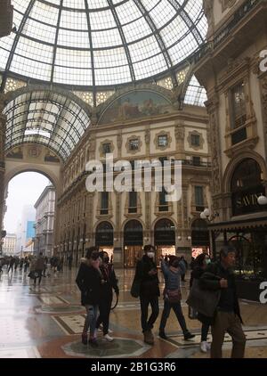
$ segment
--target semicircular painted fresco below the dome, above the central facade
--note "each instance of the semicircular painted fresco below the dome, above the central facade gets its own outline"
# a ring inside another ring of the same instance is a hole
[[[100,123],[146,118],[170,113],[172,110],[171,102],[160,94],[149,90],[135,90],[112,102],[102,114]]]

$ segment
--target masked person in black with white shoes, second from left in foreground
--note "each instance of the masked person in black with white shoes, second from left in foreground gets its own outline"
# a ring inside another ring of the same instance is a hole
[[[99,304],[99,313],[97,322],[96,322],[96,331],[100,327],[101,323],[103,324],[103,336],[108,342],[113,340],[109,336],[109,315],[112,304],[112,289],[115,290],[118,295],[119,290],[117,287],[117,278],[112,264],[109,264],[109,254],[107,252],[100,252],[101,257],[101,274],[103,279],[101,281],[101,290],[100,290],[100,304]]]

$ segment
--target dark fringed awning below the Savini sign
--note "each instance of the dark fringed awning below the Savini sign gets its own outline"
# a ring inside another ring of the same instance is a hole
[[[211,231],[223,231],[223,230],[243,230],[244,228],[259,228],[267,227],[267,217],[250,218],[243,220],[232,220],[228,222],[220,222],[218,224],[208,225],[208,229]]]

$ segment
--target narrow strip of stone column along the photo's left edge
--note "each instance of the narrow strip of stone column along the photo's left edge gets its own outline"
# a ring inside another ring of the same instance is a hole
[[[4,95],[0,94],[0,252],[2,252],[1,233],[4,220],[5,198],[4,198],[4,143],[5,143],[5,129],[6,117],[2,113],[4,110]]]

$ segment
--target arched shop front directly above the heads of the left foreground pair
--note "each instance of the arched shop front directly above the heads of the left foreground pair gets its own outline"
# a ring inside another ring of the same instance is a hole
[[[114,232],[109,222],[102,222],[95,230],[95,246],[109,254],[112,261],[114,252]]]

